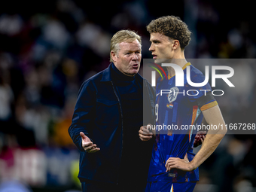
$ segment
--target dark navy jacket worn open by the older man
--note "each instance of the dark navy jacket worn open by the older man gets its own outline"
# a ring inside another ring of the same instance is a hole
[[[111,65],[114,65],[111,63]],[[111,65],[107,69],[84,81],[75,105],[69,135],[81,151],[80,171],[78,178],[81,181],[90,179],[94,181],[118,182],[120,175],[120,160],[123,149],[123,112],[119,93],[111,79]],[[141,75],[136,75],[136,81],[143,84],[143,122],[154,124],[154,90]],[[87,154],[81,146],[80,132],[100,148],[93,154]],[[139,137],[139,127],[138,134]],[[153,139],[151,139],[153,140]],[[151,158],[152,142],[141,142],[145,163],[136,162],[133,157],[131,163],[145,164],[140,172],[148,173]],[[146,179],[146,178],[145,178]]]

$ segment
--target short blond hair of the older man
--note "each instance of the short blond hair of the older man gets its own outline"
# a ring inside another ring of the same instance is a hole
[[[116,32],[110,41],[110,61],[113,62],[111,51],[117,54],[120,49],[119,44],[121,42],[133,42],[136,39],[139,41],[140,44],[142,44],[142,38],[136,32],[133,32],[131,30],[120,30]]]

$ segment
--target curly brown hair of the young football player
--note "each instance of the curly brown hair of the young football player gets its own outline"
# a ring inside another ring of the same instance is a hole
[[[148,24],[147,30],[149,33],[159,32],[169,38],[177,39],[180,43],[181,50],[189,44],[191,32],[179,17],[164,16],[152,20]]]

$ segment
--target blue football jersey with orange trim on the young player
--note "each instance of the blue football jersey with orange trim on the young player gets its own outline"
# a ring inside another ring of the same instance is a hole
[[[189,67],[188,67],[189,66]],[[207,83],[203,87],[191,87],[187,83],[187,69],[190,70],[190,80],[201,83],[205,80],[202,72],[188,62],[182,69],[184,72],[184,86],[175,86],[175,76],[157,80],[156,87],[156,139],[152,150],[148,181],[198,181],[198,168],[191,172],[172,169],[166,172],[166,160],[169,157],[183,159],[187,154],[188,160],[193,160],[194,138],[203,120],[202,111],[212,108],[218,103],[211,93]],[[207,94],[206,94],[207,93]]]

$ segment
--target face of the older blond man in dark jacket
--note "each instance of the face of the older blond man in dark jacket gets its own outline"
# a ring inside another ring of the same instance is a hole
[[[124,75],[136,75],[142,59],[142,45],[136,39],[133,42],[121,42],[119,47],[118,53],[111,52],[114,65]]]

